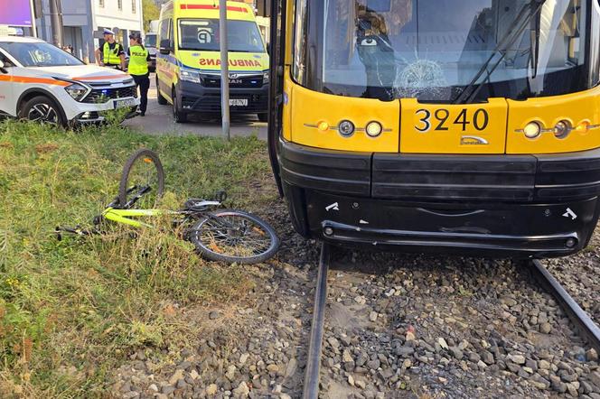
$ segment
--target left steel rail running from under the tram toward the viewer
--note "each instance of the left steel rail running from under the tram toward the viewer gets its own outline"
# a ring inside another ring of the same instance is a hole
[[[323,243],[321,258],[319,259],[319,272],[314,287],[313,322],[306,359],[304,399],[317,399],[319,397],[323,326],[325,322],[325,303],[327,302],[327,272],[329,271],[330,261],[330,247],[327,243]]]

